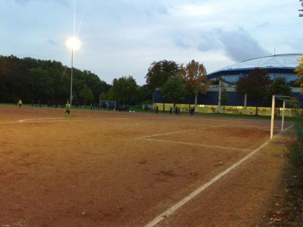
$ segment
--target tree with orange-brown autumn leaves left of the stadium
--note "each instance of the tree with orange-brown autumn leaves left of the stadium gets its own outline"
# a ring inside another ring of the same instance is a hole
[[[199,64],[192,60],[184,68],[183,65],[180,67],[179,75],[183,81],[183,87],[187,94],[191,96],[194,94],[194,106],[197,109],[197,97],[198,93],[201,92],[206,94],[207,88],[210,85],[207,78],[207,72],[203,64]],[[190,103],[189,103],[190,108]]]

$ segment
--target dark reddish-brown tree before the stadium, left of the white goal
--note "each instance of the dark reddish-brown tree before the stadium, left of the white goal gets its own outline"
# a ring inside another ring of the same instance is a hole
[[[256,68],[247,77],[240,78],[236,85],[238,95],[245,95],[255,102],[256,115],[258,115],[258,105],[263,99],[268,85],[271,83],[266,70]]]

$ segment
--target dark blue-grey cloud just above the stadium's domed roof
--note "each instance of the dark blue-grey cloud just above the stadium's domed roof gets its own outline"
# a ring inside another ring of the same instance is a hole
[[[243,28],[233,31],[218,29],[217,33],[226,56],[235,62],[271,55],[271,52],[264,49],[258,40]]]

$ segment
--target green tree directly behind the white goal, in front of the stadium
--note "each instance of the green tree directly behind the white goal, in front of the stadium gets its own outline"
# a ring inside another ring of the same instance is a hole
[[[286,83],[284,78],[276,78],[266,89],[265,101],[271,103],[273,95],[291,96],[291,87]],[[277,105],[282,105],[282,100],[276,100]],[[278,108],[280,116],[280,108]]]

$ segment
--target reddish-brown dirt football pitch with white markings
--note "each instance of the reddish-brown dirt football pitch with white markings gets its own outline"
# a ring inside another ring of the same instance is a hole
[[[280,179],[268,121],[63,115],[0,106],[0,226],[256,226]]]

